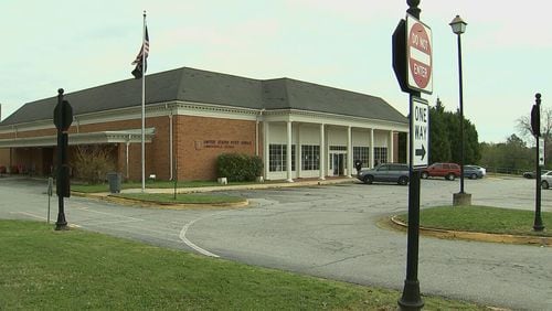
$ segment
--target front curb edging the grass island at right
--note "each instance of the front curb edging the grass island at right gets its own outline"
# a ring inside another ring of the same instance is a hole
[[[390,218],[392,225],[402,229],[407,228],[408,225],[399,221],[396,215]],[[538,245],[541,247],[552,246],[552,238],[543,236],[522,236],[509,234],[489,234],[489,233],[475,233],[475,232],[457,232],[437,228],[420,227],[420,233],[426,236],[433,236],[444,239],[467,239],[490,243],[505,243],[505,244],[529,244]]]

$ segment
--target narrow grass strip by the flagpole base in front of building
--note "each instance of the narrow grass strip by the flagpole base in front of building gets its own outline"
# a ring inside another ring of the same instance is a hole
[[[118,193],[112,194],[112,196],[164,204],[224,204],[246,201],[240,196],[203,193],[179,193],[177,194],[177,200],[174,200],[173,194],[169,193]]]

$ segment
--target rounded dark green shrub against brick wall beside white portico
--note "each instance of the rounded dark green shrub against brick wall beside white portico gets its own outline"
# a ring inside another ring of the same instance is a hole
[[[263,172],[263,160],[256,156],[222,153],[216,159],[216,174],[229,182],[254,181]]]

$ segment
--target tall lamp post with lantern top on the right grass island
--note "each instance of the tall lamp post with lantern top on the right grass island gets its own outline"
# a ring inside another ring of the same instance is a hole
[[[464,191],[464,89],[463,89],[463,78],[461,78],[461,34],[466,32],[467,23],[459,17],[456,15],[454,20],[449,23],[453,32],[456,33],[458,37],[458,78],[459,78],[459,99],[460,99],[460,192],[458,193],[458,204],[465,205],[469,202],[471,203],[471,196],[466,196]],[[461,199],[460,199],[461,197]],[[469,197],[469,199],[468,199]],[[456,196],[455,196],[456,199]],[[467,205],[469,205],[467,204]]]

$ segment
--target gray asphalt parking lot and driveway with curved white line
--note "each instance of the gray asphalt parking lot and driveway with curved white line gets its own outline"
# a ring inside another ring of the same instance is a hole
[[[423,180],[421,205],[450,204],[458,189],[458,181]],[[44,190],[36,182],[0,179],[0,217],[44,221]],[[474,204],[534,208],[534,180],[466,180],[466,191]],[[170,211],[72,197],[66,217],[84,229],[166,247],[402,289],[406,235],[378,222],[406,211],[406,186],[352,183],[230,193],[248,197],[251,206]],[[54,221],[55,203],[52,200]],[[542,210],[552,211],[552,190],[542,191]],[[422,237],[418,278],[422,293],[512,309],[552,309],[550,247]]]

